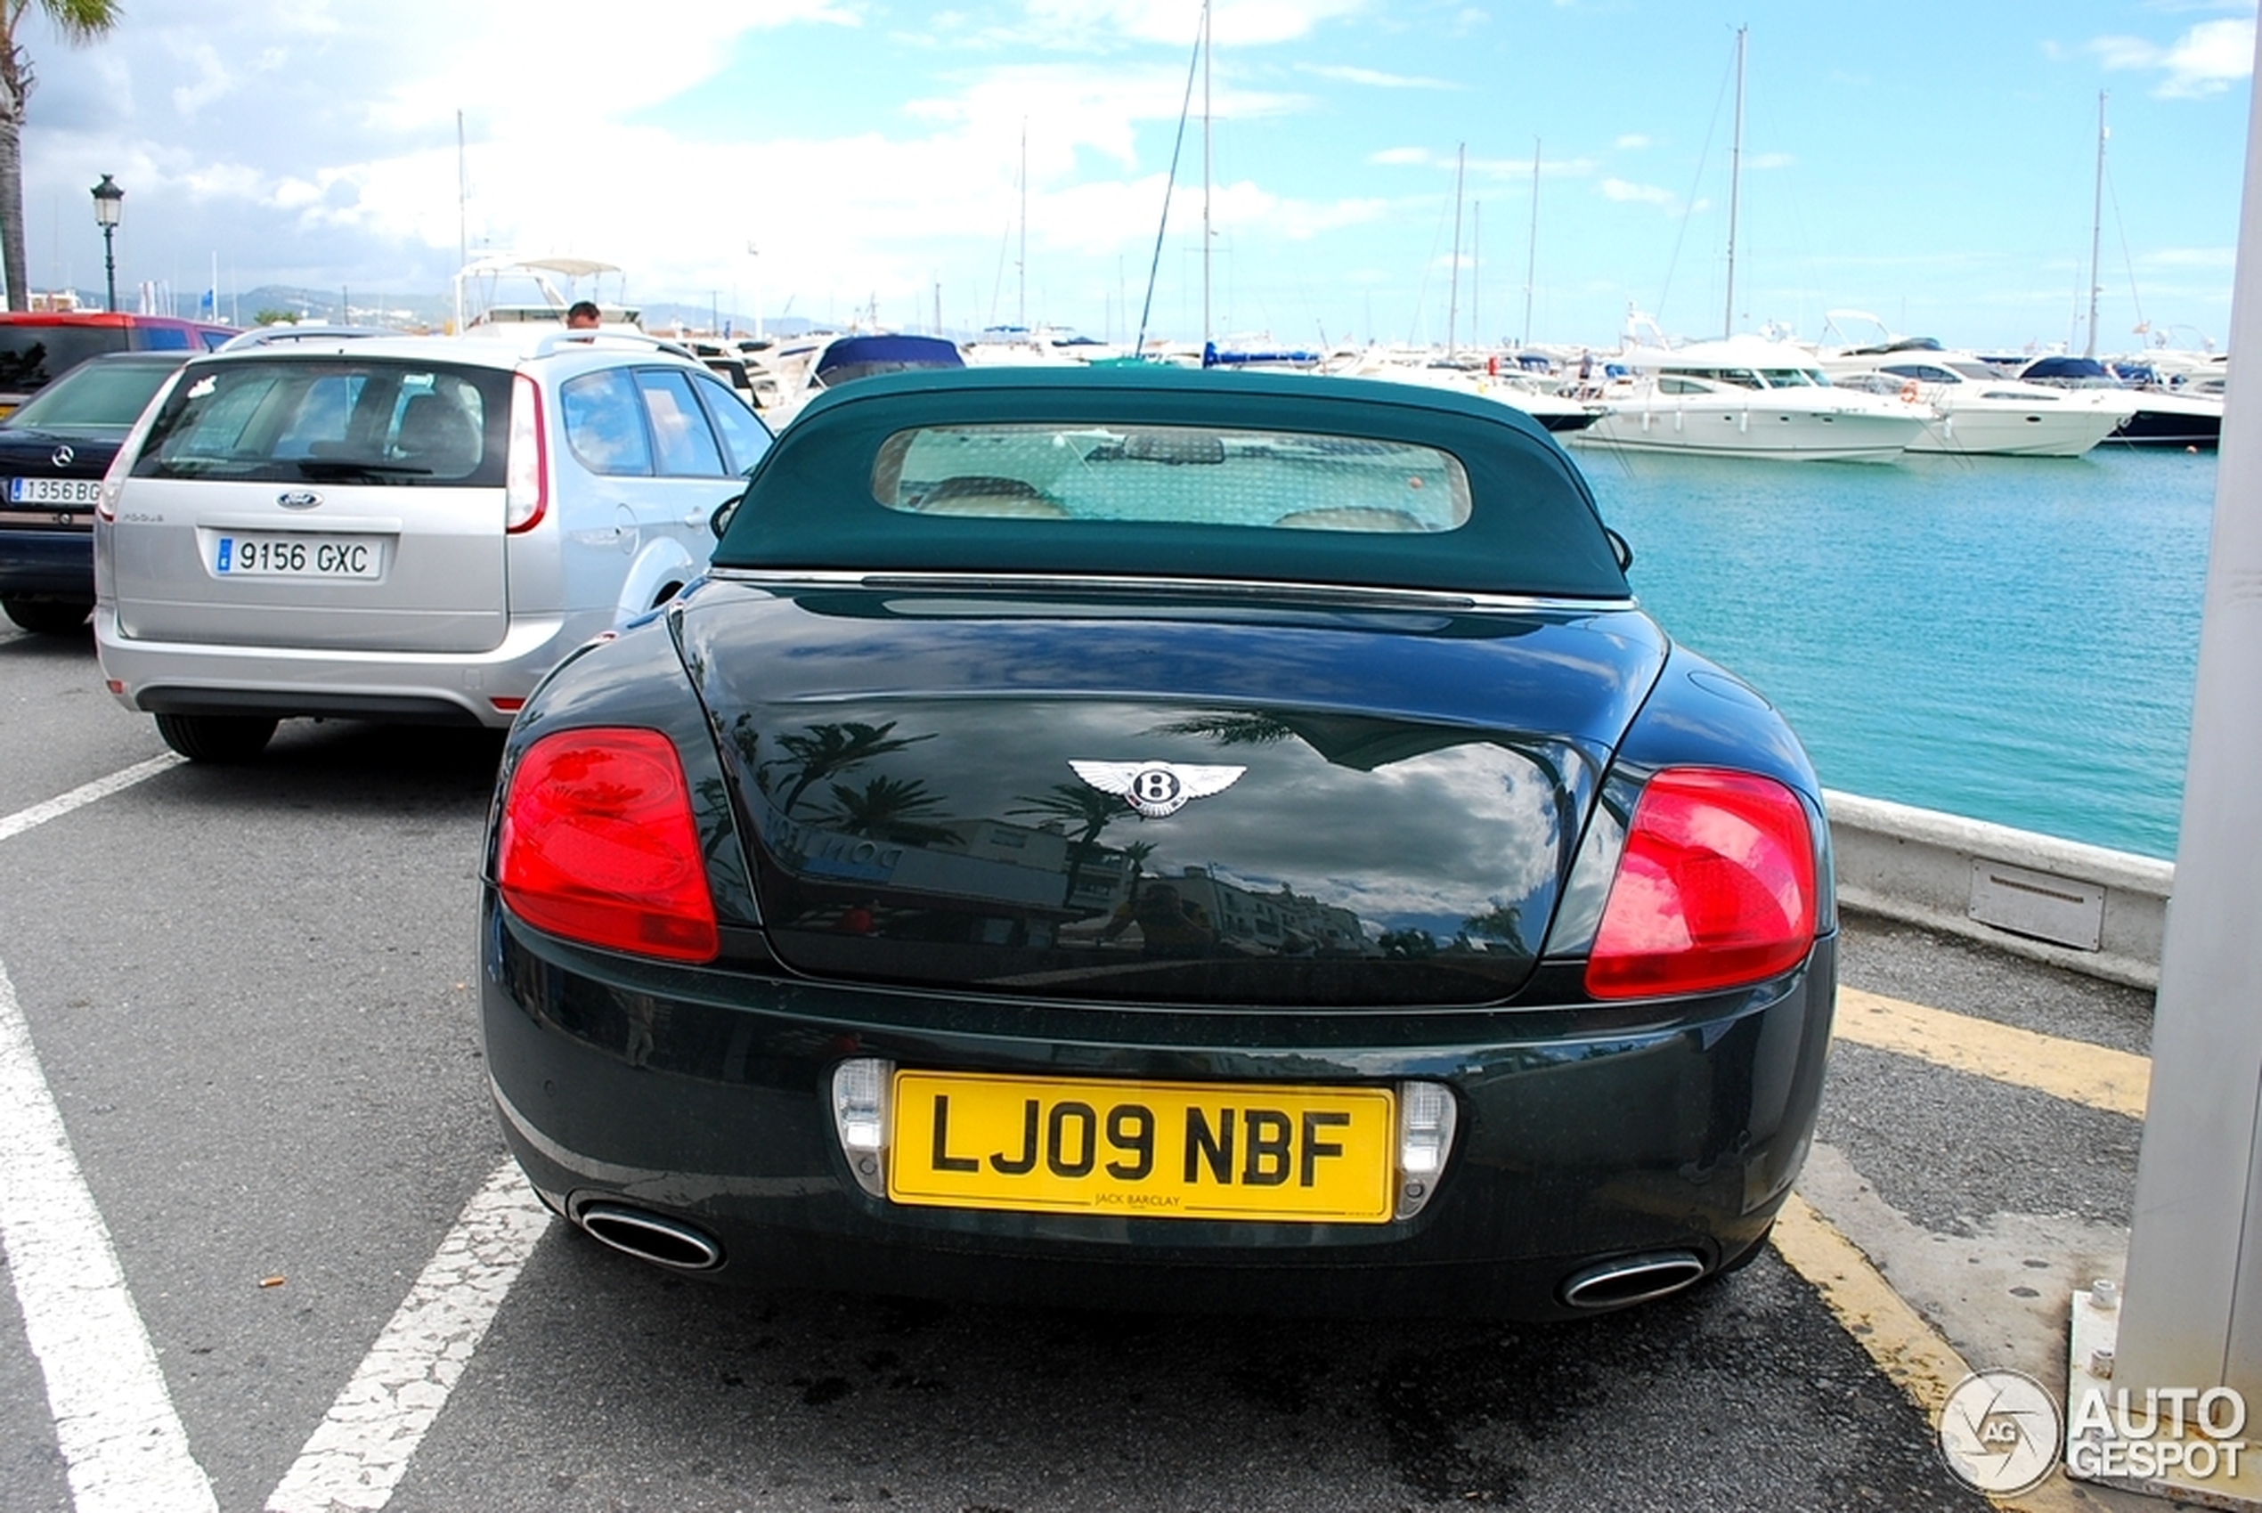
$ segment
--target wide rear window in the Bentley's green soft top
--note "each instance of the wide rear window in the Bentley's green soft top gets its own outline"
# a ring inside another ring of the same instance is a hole
[[[1452,531],[1468,473],[1430,446],[1210,425],[936,425],[880,446],[873,498],[925,516]]]

